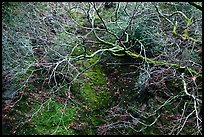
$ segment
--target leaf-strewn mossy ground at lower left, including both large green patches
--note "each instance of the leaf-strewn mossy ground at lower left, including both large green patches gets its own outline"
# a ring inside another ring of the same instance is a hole
[[[92,58],[87,61],[87,64],[96,60],[97,57]],[[27,71],[27,75],[30,73]],[[22,80],[26,78],[26,75],[21,75],[20,78]],[[101,66],[95,65],[85,71],[78,83],[80,84],[73,84],[74,88],[72,88],[72,100],[75,100],[75,96],[80,96],[79,99],[76,99],[78,103],[70,100],[64,102],[62,100],[66,98],[60,99],[57,95],[50,97],[51,94],[48,91],[39,93],[32,84],[27,84],[16,95],[16,100],[22,96],[20,101],[14,107],[8,105],[8,113],[4,111],[6,113],[4,117],[12,120],[11,123],[7,121],[6,123],[13,129],[11,133],[8,130],[9,126],[4,125],[4,134],[94,134],[94,128],[91,127],[99,126],[102,123],[103,111],[110,99],[106,76]],[[84,128],[83,133],[79,128],[80,124],[86,125],[82,127]]]

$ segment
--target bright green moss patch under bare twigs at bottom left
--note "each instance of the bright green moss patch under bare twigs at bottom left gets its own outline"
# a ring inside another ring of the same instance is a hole
[[[37,107],[36,111],[39,108],[40,106]],[[34,126],[27,133],[38,135],[53,133],[59,135],[73,134],[74,131],[67,129],[67,125],[75,121],[77,109],[77,107],[64,107],[63,104],[50,100],[33,117],[30,125]],[[25,132],[25,130],[23,131]]]

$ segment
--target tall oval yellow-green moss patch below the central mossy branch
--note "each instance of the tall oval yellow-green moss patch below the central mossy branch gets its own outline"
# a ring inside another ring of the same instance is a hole
[[[95,56],[87,60],[86,67],[94,64],[98,60]],[[81,80],[80,96],[83,99],[82,111],[87,116],[83,115],[83,120],[90,126],[99,126],[102,124],[104,109],[110,101],[110,95],[107,92],[107,80],[103,70],[99,64],[91,67],[84,73],[84,79]],[[78,89],[75,89],[78,90]],[[85,134],[93,135],[96,129],[86,129]]]

